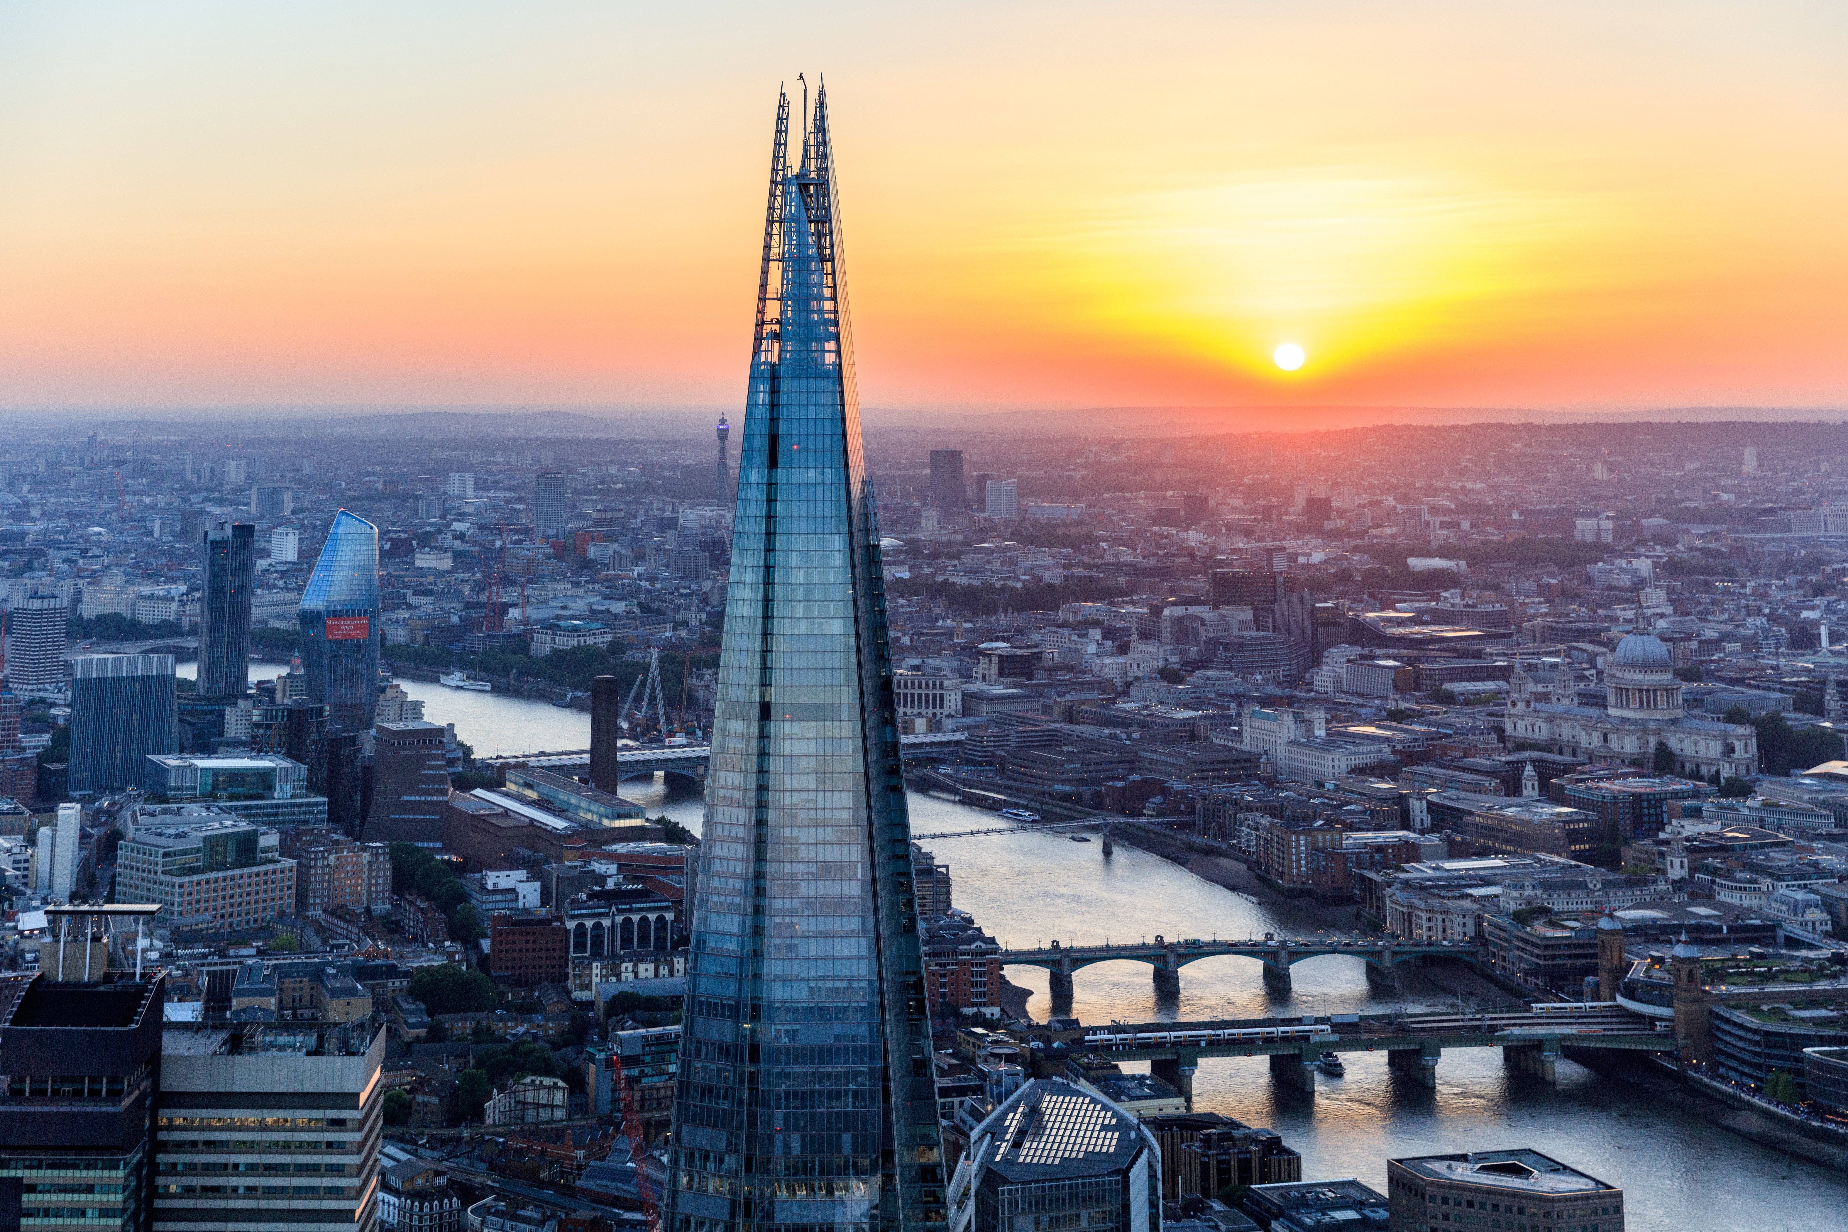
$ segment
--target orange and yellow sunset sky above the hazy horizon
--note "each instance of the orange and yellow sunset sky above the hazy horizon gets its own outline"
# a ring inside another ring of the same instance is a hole
[[[22,0],[0,406],[736,406],[824,72],[870,408],[1848,408],[1844,48],[1841,0]]]

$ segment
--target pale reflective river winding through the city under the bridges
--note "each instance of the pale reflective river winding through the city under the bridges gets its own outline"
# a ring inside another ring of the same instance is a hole
[[[190,665],[188,665],[190,667]],[[251,674],[274,676],[259,665]],[[477,754],[586,748],[590,717],[543,702],[401,682],[432,722],[455,722]],[[700,798],[684,779],[632,779],[623,794],[695,833]],[[992,813],[911,796],[911,826],[950,864],[954,901],[1003,946],[1251,936],[1283,929],[1262,901],[1225,890],[1161,857],[1116,844],[1018,831],[967,839],[931,833],[1003,826]],[[1050,1010],[1046,973],[1009,968],[1033,990],[1029,1012]],[[1109,962],[1076,975],[1072,1010],[1087,1023],[1264,1014],[1334,1014],[1395,1005],[1369,990],[1360,959],[1321,957],[1292,970],[1288,996],[1266,992],[1251,959],[1205,959],[1181,972],[1179,996],[1155,994],[1149,970]],[[1406,1001],[1419,1005],[1417,997]],[[1430,1001],[1432,1007],[1440,1001]],[[1454,1001],[1451,1003],[1454,1005]],[[1384,1055],[1347,1053],[1347,1075],[1318,1077],[1314,1097],[1271,1081],[1264,1058],[1203,1060],[1198,1110],[1268,1125],[1303,1153],[1303,1177],[1358,1177],[1384,1193],[1386,1158],[1525,1145],[1623,1186],[1626,1226],[1643,1232],[1848,1228],[1848,1178],[1785,1158],[1682,1112],[1626,1082],[1569,1060],[1558,1082],[1512,1073],[1499,1049],[1456,1049],[1438,1088],[1410,1084]]]

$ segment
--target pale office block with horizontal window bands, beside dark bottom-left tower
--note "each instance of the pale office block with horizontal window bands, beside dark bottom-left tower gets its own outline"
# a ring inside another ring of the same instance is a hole
[[[168,1031],[155,1232],[371,1232],[384,1036],[362,1021]]]

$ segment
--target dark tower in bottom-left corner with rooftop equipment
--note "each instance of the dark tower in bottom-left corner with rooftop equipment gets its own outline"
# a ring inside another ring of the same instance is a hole
[[[61,924],[52,912],[52,927]],[[87,925],[79,916],[74,927]],[[63,984],[46,972],[0,977],[9,1079],[0,1090],[0,1193],[9,1226],[148,1226],[166,977],[96,977]]]

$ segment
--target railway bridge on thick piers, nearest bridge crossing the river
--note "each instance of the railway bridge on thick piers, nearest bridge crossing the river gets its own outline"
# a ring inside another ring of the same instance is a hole
[[[1314,1093],[1323,1053],[1386,1053],[1395,1071],[1436,1086],[1443,1049],[1499,1047],[1514,1068],[1552,1082],[1565,1047],[1672,1053],[1674,1033],[1665,1021],[1593,1001],[1480,1014],[1112,1023],[1085,1031],[1070,1047],[1112,1060],[1146,1060],[1149,1073],[1177,1088],[1192,1106],[1194,1071],[1203,1057],[1270,1057],[1271,1073]]]

